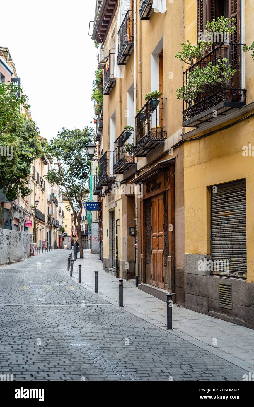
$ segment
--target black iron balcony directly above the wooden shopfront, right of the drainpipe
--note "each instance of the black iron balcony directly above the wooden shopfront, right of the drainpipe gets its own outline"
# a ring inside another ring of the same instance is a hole
[[[166,98],[150,98],[136,115],[135,157],[145,157],[158,144],[166,140],[163,126],[163,101]]]

